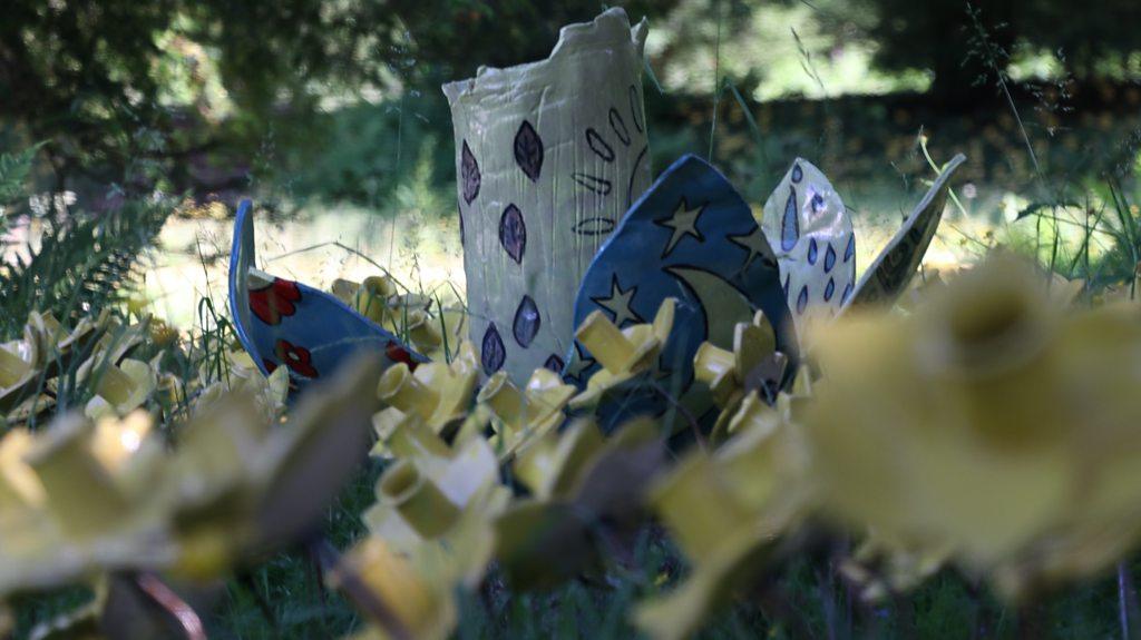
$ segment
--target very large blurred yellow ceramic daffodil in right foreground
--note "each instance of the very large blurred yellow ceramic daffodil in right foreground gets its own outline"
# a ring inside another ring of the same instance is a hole
[[[994,257],[911,317],[841,321],[818,356],[804,433],[822,497],[889,545],[947,545],[1018,593],[1138,540],[1135,307],[1067,309]]]

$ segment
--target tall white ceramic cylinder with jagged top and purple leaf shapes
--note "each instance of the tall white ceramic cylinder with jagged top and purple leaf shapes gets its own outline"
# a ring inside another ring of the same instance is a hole
[[[576,326],[567,300],[649,187],[641,73],[646,23],[622,9],[564,27],[551,56],[444,87],[471,340],[485,375],[559,371]]]

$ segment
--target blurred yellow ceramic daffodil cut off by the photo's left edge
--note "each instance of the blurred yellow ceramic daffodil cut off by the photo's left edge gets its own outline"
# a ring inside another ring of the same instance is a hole
[[[113,437],[145,433],[149,418],[136,420],[97,435],[70,415],[34,435],[14,429],[0,441],[0,594],[67,584],[100,567],[173,559],[161,509],[148,499],[156,459],[130,460],[135,441]]]

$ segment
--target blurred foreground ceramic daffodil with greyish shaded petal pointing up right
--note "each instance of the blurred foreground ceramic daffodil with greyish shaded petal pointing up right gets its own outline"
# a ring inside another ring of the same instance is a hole
[[[304,531],[367,452],[380,362],[347,363],[280,426],[237,388],[179,435],[157,490],[184,575],[215,576]]]

